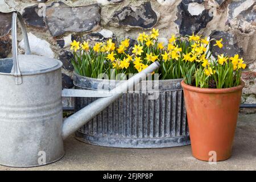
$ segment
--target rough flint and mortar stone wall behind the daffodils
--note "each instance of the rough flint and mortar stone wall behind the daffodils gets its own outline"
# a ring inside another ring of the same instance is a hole
[[[0,0],[0,57],[11,56],[11,11],[20,11],[27,24],[33,53],[60,59],[63,86],[72,88],[72,40],[115,41],[158,28],[160,37],[199,33],[224,40],[229,55],[240,53],[244,103],[256,103],[255,0]],[[20,34],[20,33],[19,33]],[[22,40],[19,35],[19,40]],[[21,41],[19,47],[23,48]]]

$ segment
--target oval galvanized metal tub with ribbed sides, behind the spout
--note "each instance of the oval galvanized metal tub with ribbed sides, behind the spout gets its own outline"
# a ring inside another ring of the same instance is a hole
[[[141,92],[141,88],[138,92],[123,94],[81,127],[76,132],[76,139],[99,146],[122,148],[162,148],[190,144],[180,82],[181,79],[159,80],[159,97],[155,100],[149,100],[152,93]],[[89,90],[110,90],[116,85],[109,80],[76,73],[74,84],[77,89]],[[75,98],[75,110],[82,109],[96,99]]]

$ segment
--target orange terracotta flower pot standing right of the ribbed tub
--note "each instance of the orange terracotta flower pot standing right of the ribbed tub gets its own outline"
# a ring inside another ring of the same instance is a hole
[[[208,161],[228,159],[237,125],[241,85],[226,89],[204,89],[181,82],[184,89],[192,155]]]

